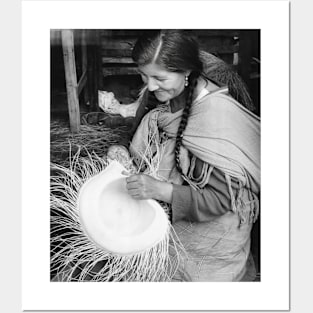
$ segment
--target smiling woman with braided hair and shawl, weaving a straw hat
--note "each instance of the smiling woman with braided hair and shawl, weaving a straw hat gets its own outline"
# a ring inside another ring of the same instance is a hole
[[[174,281],[243,280],[259,209],[259,118],[203,75],[198,45],[183,32],[140,38],[133,59],[159,105],[141,120],[130,152],[140,165],[149,151],[157,175],[127,177],[128,192],[171,205],[188,252]]]

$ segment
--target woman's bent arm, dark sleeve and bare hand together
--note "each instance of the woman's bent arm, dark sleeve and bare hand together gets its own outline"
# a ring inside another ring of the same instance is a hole
[[[204,222],[231,209],[231,198],[222,171],[214,168],[208,184],[200,190],[189,185],[176,185],[157,180],[146,174],[126,178],[128,193],[135,199],[155,199],[172,204],[173,221],[187,219]],[[239,186],[232,181],[236,194]]]

